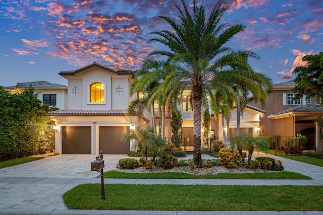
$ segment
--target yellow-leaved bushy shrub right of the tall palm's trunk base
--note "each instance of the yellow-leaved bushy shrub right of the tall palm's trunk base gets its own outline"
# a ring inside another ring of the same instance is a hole
[[[233,152],[232,149],[226,148],[220,149],[219,158],[219,164],[228,169],[238,168],[242,161],[242,157],[238,153]]]

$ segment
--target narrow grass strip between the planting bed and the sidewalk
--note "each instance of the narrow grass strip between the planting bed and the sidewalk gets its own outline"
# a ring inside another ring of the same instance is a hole
[[[311,179],[308,176],[288,171],[266,173],[219,173],[216,175],[194,175],[187,173],[126,173],[120,171],[104,172],[104,178],[161,178],[161,179]]]

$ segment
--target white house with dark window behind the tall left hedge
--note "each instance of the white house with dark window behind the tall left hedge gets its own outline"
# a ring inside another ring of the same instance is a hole
[[[25,82],[18,83],[16,86],[4,87],[7,90],[14,93],[22,93],[26,88],[31,85],[35,89],[35,93],[38,94],[38,99],[43,101],[44,104],[49,106],[56,106],[60,109],[66,109],[67,107],[67,87],[59,84],[52,84],[45,81],[39,82]]]

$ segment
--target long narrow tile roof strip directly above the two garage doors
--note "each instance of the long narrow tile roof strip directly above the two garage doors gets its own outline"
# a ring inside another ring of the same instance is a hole
[[[128,110],[57,110],[49,111],[49,116],[59,115],[126,115]]]

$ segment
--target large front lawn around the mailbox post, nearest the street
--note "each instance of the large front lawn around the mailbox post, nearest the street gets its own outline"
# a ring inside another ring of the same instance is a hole
[[[67,191],[69,209],[323,210],[323,186],[82,184]]]

